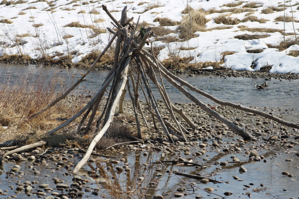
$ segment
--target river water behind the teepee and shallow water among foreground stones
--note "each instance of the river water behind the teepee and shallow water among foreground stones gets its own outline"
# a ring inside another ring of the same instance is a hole
[[[34,78],[44,78],[48,79],[50,81],[51,78],[54,76],[57,78],[59,77],[59,81],[63,82],[63,85],[65,88],[67,88],[68,85],[71,85],[74,83],[80,76],[81,73],[84,73],[86,70],[83,69],[74,69],[74,68],[58,68],[58,67],[36,67],[36,66],[18,66],[18,65],[9,65],[9,64],[0,64],[0,83],[3,82],[16,82],[19,81],[20,77],[26,77],[27,79],[34,79]],[[78,87],[76,90],[76,93],[80,95],[83,93],[83,95],[88,95],[85,93],[85,90],[90,90],[91,94],[95,93],[102,84],[102,81],[104,80],[105,76],[107,75],[108,71],[92,71],[88,77],[87,81],[83,82],[83,84]],[[243,78],[243,77],[228,77],[223,78],[219,76],[213,76],[213,75],[201,75],[201,76],[192,76],[187,77],[187,75],[179,75],[184,80],[187,80],[190,84],[196,86],[199,89],[202,89],[206,92],[208,92],[211,95],[216,96],[219,99],[225,100],[225,101],[231,101],[235,103],[240,103],[245,106],[253,106],[253,107],[276,107],[281,108],[282,110],[287,109],[284,113],[285,119],[290,120],[292,122],[299,122],[299,115],[298,115],[298,109],[299,109],[299,100],[298,100],[298,94],[299,94],[299,80],[275,80],[271,79],[268,81],[269,89],[267,90],[257,90],[254,85],[255,84],[262,84],[264,82],[263,79],[259,78]],[[58,86],[61,85],[60,83]],[[168,94],[173,102],[178,103],[185,103],[189,102],[187,98],[185,98],[182,94],[180,94],[173,86],[167,84],[165,82],[165,86],[167,87]],[[154,89],[153,89],[154,90]],[[157,92],[157,90],[154,90]],[[204,99],[202,96],[195,94],[198,99],[202,100],[205,103],[211,103],[210,100]],[[157,97],[156,99],[159,99]],[[223,142],[228,142],[231,140],[223,140]],[[252,144],[254,145],[254,143]],[[250,143],[249,143],[250,146]],[[247,146],[247,147],[249,147]],[[169,164],[167,166],[168,169],[178,169],[179,172],[184,173],[192,173],[195,174],[200,173],[202,175],[205,174],[211,174],[213,173],[214,176],[210,178],[215,178],[218,181],[222,181],[221,184],[213,184],[209,183],[207,185],[203,185],[199,183],[199,180],[191,179],[191,178],[185,178],[182,177],[183,180],[186,180],[187,182],[196,183],[197,186],[205,188],[205,187],[213,187],[215,189],[215,193],[222,195],[224,192],[231,191],[233,192],[232,196],[229,196],[228,198],[249,198],[249,193],[251,194],[251,198],[299,198],[299,190],[298,190],[298,180],[299,180],[299,159],[295,155],[295,153],[298,152],[298,145],[295,145],[294,148],[291,149],[283,149],[280,148],[279,150],[273,151],[271,148],[269,149],[263,149],[259,151],[260,155],[264,155],[266,162],[260,161],[256,162],[254,164],[247,164],[248,156],[243,156],[244,153],[235,153],[231,152],[230,154],[224,154],[224,153],[218,153],[214,149],[210,149],[209,147],[206,148],[206,156],[209,157],[209,159],[212,162],[215,161],[231,161],[231,156],[235,155],[238,159],[243,162],[242,164],[244,167],[248,170],[248,172],[245,172],[243,174],[239,173],[239,166],[241,164],[230,164],[227,167],[222,167],[221,169],[218,168],[218,166],[212,166],[205,170],[202,170],[200,168],[190,167],[190,166],[173,166]],[[200,149],[191,149],[191,154],[195,153]],[[127,163],[129,164],[130,168],[135,168],[131,170],[131,174],[134,176],[137,174],[136,168],[140,167],[145,162],[153,162],[157,161],[161,157],[161,152],[159,153],[153,153],[150,152],[149,155],[143,156],[144,152],[136,152],[136,151],[123,151],[122,154],[116,153],[116,154],[109,154],[114,155],[118,158],[125,158]],[[79,155],[76,155],[74,153],[74,158],[69,158],[69,161],[72,161],[74,163],[77,163],[82,157]],[[65,155],[68,157],[68,155]],[[188,155],[184,155],[184,151],[177,152],[176,156],[181,157],[187,157]],[[205,156],[205,157],[206,157]],[[166,160],[166,158],[172,158],[171,155],[166,155],[161,160]],[[203,158],[203,156],[202,156]],[[287,159],[292,159],[293,161],[285,161]],[[202,162],[202,159],[200,157],[194,157],[193,162]],[[29,165],[32,165],[32,162],[24,161],[24,162],[16,162],[16,163],[7,163],[4,165],[4,167],[1,167],[1,170],[9,171],[14,164],[19,164],[21,166],[21,171],[24,171],[25,173],[32,172],[32,169],[29,169]],[[62,176],[65,172],[68,172],[66,169],[62,168],[59,170],[55,170],[55,163],[47,162],[47,166],[44,164],[35,165],[35,168],[41,172],[39,176],[34,175],[21,175],[19,177],[12,177],[9,175],[6,175],[5,173],[0,174],[0,189],[9,189],[8,186],[12,185],[13,187],[16,187],[17,181],[20,181],[21,183],[24,181],[32,181],[37,180],[42,183],[48,183],[51,188],[55,188],[55,184],[53,183],[52,178],[63,178],[64,183],[71,184],[72,177],[69,176]],[[123,165],[124,162],[121,162],[119,165]],[[133,167],[135,165],[135,167]],[[90,170],[95,169],[99,167],[99,165],[90,163],[86,164],[83,169]],[[145,167],[145,166],[144,166]],[[189,195],[186,195],[182,198],[186,199],[194,199],[196,195],[202,195],[204,198],[217,198],[215,195],[207,194],[206,192],[203,192],[201,190],[198,190],[198,188],[194,188],[195,193],[193,193],[193,190],[191,186],[186,185],[183,183],[178,177],[174,176],[173,174],[168,174],[166,169],[162,168],[161,165],[156,164],[148,164],[148,168],[154,168],[155,171],[154,174],[150,173],[149,175],[145,175],[145,180],[149,180],[150,182],[157,182],[154,187],[149,188],[150,192],[149,194],[162,194],[165,199],[173,198],[173,193],[176,191],[177,188],[180,186],[186,187]],[[162,170],[161,170],[162,169]],[[140,170],[141,171],[141,170]],[[289,178],[286,176],[283,176],[281,173],[283,171],[288,171],[290,174],[293,174],[293,178]],[[53,172],[53,173],[51,173]],[[92,178],[89,178],[86,172],[84,170],[80,171],[81,176],[85,176],[83,178],[88,178],[91,180],[87,185],[90,188],[101,188],[104,193],[107,193],[107,190],[105,189],[104,184],[98,182],[96,183],[93,181]],[[156,173],[161,173],[161,176],[156,176]],[[145,171],[146,174],[146,171]],[[50,175],[50,177],[45,177],[46,175]],[[137,174],[138,176],[140,175]],[[240,179],[234,180],[232,177],[233,175],[237,175]],[[149,178],[147,176],[150,176]],[[121,173],[119,175],[120,182],[126,182],[126,179],[128,179],[128,174]],[[245,187],[249,186],[249,183],[252,183],[250,185],[251,187]],[[263,184],[263,187],[260,186],[260,184]],[[253,188],[257,187],[256,191],[253,191]],[[37,186],[34,187],[34,190],[36,191],[38,188]],[[54,190],[55,191],[55,190]],[[0,196],[0,198],[7,198],[8,196],[16,195],[15,189],[7,190],[7,196]],[[47,195],[50,195],[47,194]],[[102,194],[99,194],[102,196]],[[31,195],[30,197],[26,196],[24,192],[17,194],[17,198],[37,198],[36,195]],[[91,192],[86,192],[83,196],[83,198],[99,198],[99,196],[93,195]],[[140,197],[141,198],[141,197]],[[148,197],[152,198],[152,197]],[[220,198],[220,197],[218,197]]]

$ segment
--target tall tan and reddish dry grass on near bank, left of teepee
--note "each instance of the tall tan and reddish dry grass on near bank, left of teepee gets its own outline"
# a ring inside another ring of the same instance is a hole
[[[60,91],[58,85],[61,82],[59,78],[53,77],[50,82],[46,82],[48,78],[43,77],[31,79],[30,74],[21,76],[18,81],[10,81],[10,78],[2,77],[5,81],[0,86],[0,124],[8,126],[7,129],[0,128],[1,142],[20,139],[32,131],[44,133],[56,127],[56,118],[61,117],[61,110],[69,109],[62,107],[61,103],[37,118],[27,118],[45,108],[57,97]],[[63,117],[69,116],[69,112],[66,112]]]

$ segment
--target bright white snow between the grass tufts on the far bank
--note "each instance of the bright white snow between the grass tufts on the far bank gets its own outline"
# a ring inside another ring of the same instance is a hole
[[[13,0],[17,3],[18,0]],[[44,1],[44,2],[43,2]],[[45,55],[58,58],[58,56],[68,55],[72,52],[72,62],[78,62],[82,57],[87,55],[93,50],[102,50],[105,48],[109,41],[110,34],[103,33],[96,37],[94,35],[93,28],[76,28],[76,27],[64,27],[72,22],[79,22],[82,25],[93,26],[94,28],[106,27],[113,28],[110,23],[111,20],[107,14],[102,10],[102,4],[106,5],[112,15],[116,19],[120,19],[121,10],[124,6],[128,6],[128,18],[134,17],[134,21],[137,22],[140,16],[140,22],[146,21],[152,25],[159,26],[159,22],[153,22],[157,17],[168,17],[175,21],[181,21],[184,14],[181,12],[186,7],[187,3],[194,9],[202,8],[208,10],[214,8],[216,10],[228,9],[231,7],[224,7],[226,3],[237,3],[239,1],[232,0],[103,0],[103,1],[87,1],[87,0],[56,0],[50,3],[46,0],[35,1],[27,0],[25,3],[17,3],[6,6],[0,5],[0,20],[9,19],[12,21],[10,24],[0,23],[0,56],[3,54],[28,54],[31,58],[40,58]],[[250,1],[245,1],[243,7]],[[254,1],[251,1],[254,2]],[[242,31],[239,26],[247,26],[248,28],[275,28],[284,29],[284,23],[281,21],[275,21],[278,16],[291,16],[293,14],[294,20],[299,20],[299,5],[298,1],[291,0],[286,3],[286,10],[271,14],[263,14],[262,10],[267,7],[283,8],[283,1],[273,0],[260,0],[255,2],[260,4],[261,7],[253,8],[255,12],[249,16],[256,16],[259,19],[263,18],[268,21],[265,23],[259,22],[241,22],[237,25],[230,25],[232,28],[224,30],[211,30],[206,32],[197,31],[196,38],[192,38],[184,42],[171,42],[165,44],[161,41],[154,41],[153,45],[165,46],[158,55],[160,60],[168,58],[170,52],[177,53],[180,57],[193,57],[191,63],[198,62],[219,62],[222,58],[221,53],[226,51],[235,52],[234,54],[227,55],[224,58],[225,66],[235,70],[248,70],[256,71],[260,70],[263,66],[272,65],[270,72],[299,73],[299,57],[293,57],[288,55],[290,51],[298,51],[299,45],[292,45],[288,49],[279,51],[278,49],[268,48],[266,44],[278,45],[284,39],[286,41],[295,39],[294,31],[298,33],[299,23],[292,22],[285,23],[285,32],[292,33],[288,36],[284,36],[279,32],[274,33],[262,33],[262,32],[250,32]],[[147,7],[152,5],[159,5],[143,12]],[[292,5],[292,6],[290,6]],[[29,8],[30,9],[26,9]],[[34,9],[36,8],[36,9]],[[90,11],[96,10],[99,14],[89,14]],[[85,12],[79,13],[78,12]],[[292,12],[293,11],[293,12]],[[21,12],[23,12],[23,15]],[[206,16],[210,19],[206,23],[206,28],[215,28],[223,26],[223,24],[216,24],[214,19],[222,14],[230,14],[230,17],[244,19],[248,12],[239,14],[233,14],[231,12],[225,13],[213,13]],[[96,19],[104,19],[104,22],[94,22]],[[40,27],[33,27],[32,25],[38,25]],[[177,33],[171,33],[171,36],[178,37],[178,26],[165,27],[171,30],[177,31]],[[294,30],[295,29],[295,30]],[[26,37],[19,37],[20,35],[27,34]],[[235,39],[237,35],[264,35],[269,36],[262,39],[241,40]],[[71,38],[65,38],[65,35],[72,35]],[[65,38],[65,39],[64,39]],[[18,41],[26,44],[16,45]],[[179,48],[191,48],[192,50],[178,50]],[[261,53],[248,53],[247,50],[263,49]],[[255,67],[250,67],[256,65]]]

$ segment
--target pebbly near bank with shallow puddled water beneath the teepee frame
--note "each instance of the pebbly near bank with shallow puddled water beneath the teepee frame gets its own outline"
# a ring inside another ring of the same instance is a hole
[[[169,118],[161,105],[162,103],[158,102],[164,119],[168,121]],[[231,197],[241,198],[249,196],[272,198],[277,195],[291,198],[299,194],[296,188],[297,183],[295,183],[298,181],[299,164],[297,129],[288,128],[230,107],[213,106],[218,113],[234,121],[252,136],[251,141],[243,141],[226,125],[219,123],[194,104],[177,103],[175,105],[185,111],[196,124],[196,129],[191,130],[187,123],[179,119],[188,129],[187,142],[173,137],[175,143],[169,143],[162,128],[158,126],[158,129],[154,129],[150,116],[145,115],[151,129],[146,131],[144,129],[143,141],[94,151],[95,153],[79,171],[78,176],[71,174],[71,171],[84,155],[86,148],[80,146],[79,142],[76,143],[74,139],[69,139],[59,146],[45,145],[24,151],[19,155],[4,157],[2,166],[0,166],[1,194],[5,198],[89,197],[93,199],[117,198],[130,193],[136,196],[134,193],[139,190],[143,198],[149,199],[155,194],[162,195],[164,199],[217,197],[198,187],[221,196],[232,194]],[[124,107],[125,114],[118,114],[116,117],[118,123],[114,126],[124,125],[127,130],[132,130],[132,134],[127,134],[132,136],[136,132],[136,123],[134,117],[128,117],[128,115],[133,115],[130,101],[125,101]],[[272,112],[279,117],[285,114],[284,110],[278,108],[263,108],[262,110]],[[289,109],[289,111],[292,110]],[[74,136],[72,129],[75,128],[76,125],[59,134],[73,134]],[[121,134],[119,130],[117,132]],[[82,140],[88,139],[80,134],[78,137]],[[113,137],[117,137],[117,134]],[[100,148],[100,145],[97,148]],[[253,150],[257,152],[254,152],[253,158],[249,158]],[[4,152],[6,151],[0,150],[1,155]],[[153,162],[159,162],[158,159],[190,161],[194,165],[165,162],[166,169],[161,164],[153,164]],[[168,169],[172,172],[202,176],[205,180],[182,177],[195,186],[193,187],[195,192],[192,193],[190,185],[181,181]],[[276,181],[270,183],[273,177]],[[213,183],[208,179],[217,180],[220,183]],[[10,183],[15,180],[18,182]],[[279,183],[276,183],[278,181]],[[117,187],[114,187],[114,183],[117,183]],[[127,183],[130,183],[130,187]],[[118,194],[112,196],[113,190]]]

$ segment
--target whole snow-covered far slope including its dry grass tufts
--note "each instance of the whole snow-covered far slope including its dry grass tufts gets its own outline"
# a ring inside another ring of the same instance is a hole
[[[54,59],[71,55],[76,63],[92,51],[101,51],[110,36],[105,28],[113,28],[101,8],[105,4],[116,19],[120,19],[123,7],[128,6],[128,17],[134,17],[135,22],[140,16],[140,22],[169,29],[156,41],[152,39],[154,46],[161,47],[160,60],[191,57],[191,63],[218,62],[235,70],[255,71],[267,66],[270,72],[299,73],[296,57],[299,45],[295,42],[299,28],[297,1],[288,1],[286,5],[271,0],[219,2],[3,0],[0,55],[28,54],[31,58]],[[189,9],[185,9],[187,4]],[[195,29],[196,24],[191,21],[194,36],[184,38],[182,35],[188,30],[180,24],[184,17],[188,20],[192,10],[202,12],[203,26]],[[159,20],[165,18],[174,23]]]

